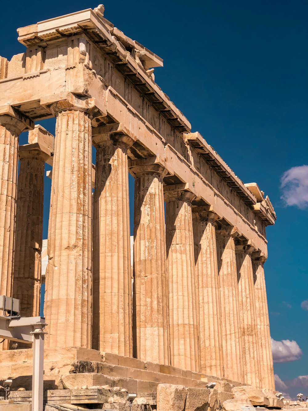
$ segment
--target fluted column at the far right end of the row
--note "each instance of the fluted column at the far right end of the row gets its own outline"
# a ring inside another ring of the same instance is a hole
[[[271,335],[269,332],[269,312],[265,287],[265,257],[253,253],[253,274],[255,280],[255,307],[257,315],[257,347],[260,355],[260,386],[275,390]]]

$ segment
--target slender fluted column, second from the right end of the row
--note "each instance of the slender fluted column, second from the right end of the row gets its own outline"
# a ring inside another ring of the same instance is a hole
[[[253,247],[237,242],[237,279],[239,283],[239,319],[241,324],[244,382],[259,387],[259,351],[257,317],[251,253]]]

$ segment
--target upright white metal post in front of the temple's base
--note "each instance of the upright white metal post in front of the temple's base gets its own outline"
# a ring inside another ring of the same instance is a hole
[[[43,411],[44,334],[41,327],[33,334],[32,411]]]

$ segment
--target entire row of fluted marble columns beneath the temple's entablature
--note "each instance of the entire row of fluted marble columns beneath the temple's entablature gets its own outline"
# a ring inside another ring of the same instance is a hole
[[[217,225],[218,216],[209,208],[192,207],[191,192],[182,186],[163,187],[166,171],[155,159],[129,162],[129,137],[92,136],[91,111],[85,102],[60,102],[51,110],[56,131],[46,272],[47,346],[92,347],[274,388],[261,256],[252,259],[251,246],[237,240],[232,227]],[[0,116],[2,180],[9,182],[14,175],[16,188],[17,160],[11,173],[3,171],[5,150],[11,145],[17,159],[18,136],[9,124],[7,116]],[[97,148],[93,219],[92,142]],[[37,289],[40,277],[40,173],[45,160],[35,150],[20,159],[19,213],[24,220],[33,217],[29,225],[16,216],[14,289],[23,305],[23,298],[30,297],[18,290],[21,278]],[[135,177],[133,301],[129,170]],[[16,192],[11,198],[15,201]],[[14,220],[14,210],[5,210],[7,219]],[[1,217],[2,221],[3,230],[7,220]],[[9,226],[14,226],[12,220]],[[29,227],[35,227],[37,240],[31,256],[22,241],[30,236]],[[9,261],[7,242],[0,244],[0,252]],[[37,261],[36,266],[27,266],[26,260]],[[4,263],[2,257],[1,293],[10,295],[3,288],[11,284]],[[37,291],[31,298],[37,298]]]

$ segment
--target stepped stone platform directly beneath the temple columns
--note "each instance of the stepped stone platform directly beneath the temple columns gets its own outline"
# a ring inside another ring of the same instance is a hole
[[[126,385],[136,387],[133,381],[167,383],[184,385],[192,388],[206,388],[206,384],[214,381],[219,390],[231,391],[231,385],[239,385],[233,381],[228,382],[216,376],[183,370],[170,365],[143,362],[136,358],[117,356],[111,353],[99,353],[96,350],[80,349],[76,347],[54,349],[46,348],[44,351],[44,387],[45,389],[63,388],[61,377],[66,374],[100,374],[101,381],[107,377],[120,378]],[[20,349],[0,352],[0,381],[13,378],[12,389],[23,387],[31,388],[32,376],[32,349]],[[30,378],[29,378],[30,376]],[[106,385],[108,382],[91,383],[90,386]],[[76,386],[78,384],[75,384]],[[87,385],[89,384],[82,384]],[[74,387],[73,387],[74,388]],[[124,386],[126,388],[126,386]],[[154,389],[154,387],[152,387]],[[152,389],[149,392],[152,392]]]

